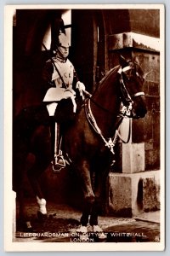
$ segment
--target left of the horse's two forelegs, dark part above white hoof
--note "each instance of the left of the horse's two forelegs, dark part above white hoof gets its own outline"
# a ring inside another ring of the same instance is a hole
[[[77,168],[79,177],[82,183],[82,191],[84,196],[84,207],[82,212],[81,224],[82,226],[87,226],[88,218],[92,211],[92,207],[94,204],[94,191],[92,189],[92,180],[90,177],[89,163],[87,160],[82,160],[79,163]],[[80,168],[82,166],[82,168]]]

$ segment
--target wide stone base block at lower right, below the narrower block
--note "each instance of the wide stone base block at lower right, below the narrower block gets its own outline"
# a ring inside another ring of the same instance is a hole
[[[106,212],[134,217],[160,209],[160,172],[111,173]]]

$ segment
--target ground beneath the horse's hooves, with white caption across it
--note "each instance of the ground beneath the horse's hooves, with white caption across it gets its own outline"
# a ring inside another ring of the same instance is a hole
[[[37,242],[145,242],[159,241],[160,224],[143,221],[134,218],[99,217],[99,225],[104,231],[105,237],[99,239],[88,228],[88,236],[77,233],[81,212],[63,205],[48,203],[48,217],[41,221],[37,218],[36,203],[29,203],[27,208],[31,216],[33,231],[27,233],[23,230],[17,218],[16,234],[14,241],[37,241]]]

